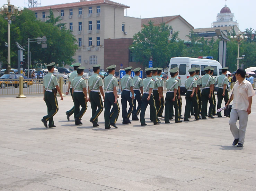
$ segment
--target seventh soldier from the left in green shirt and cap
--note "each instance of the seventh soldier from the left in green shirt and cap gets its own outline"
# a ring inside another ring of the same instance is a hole
[[[133,70],[134,72],[134,77],[133,77],[133,92],[135,94],[135,100],[134,100],[134,107],[132,111],[132,120],[139,120],[138,115],[141,110],[141,96],[143,96],[143,83],[142,79],[139,77],[140,76],[140,68],[135,68]],[[138,107],[136,109],[136,101],[138,102]]]

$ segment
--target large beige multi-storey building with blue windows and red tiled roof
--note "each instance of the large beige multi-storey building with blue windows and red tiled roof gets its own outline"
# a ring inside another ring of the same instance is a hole
[[[82,66],[92,69],[93,65],[104,63],[104,39],[132,38],[141,30],[141,19],[124,16],[124,10],[130,8],[110,0],[80,0],[80,2],[35,7],[36,18],[46,21],[52,8],[55,17],[76,37],[79,49],[73,57]]]

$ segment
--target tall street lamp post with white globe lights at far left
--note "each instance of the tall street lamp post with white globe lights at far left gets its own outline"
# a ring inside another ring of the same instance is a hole
[[[16,17],[12,16],[13,14],[20,15],[24,10],[23,7],[18,7],[16,5],[10,4],[10,0],[7,0],[8,4],[3,5],[0,8],[0,13],[2,15],[6,14],[5,19],[8,20],[8,67],[5,71],[6,74],[12,72],[11,70],[11,35],[10,35],[10,24],[11,20],[15,20]]]

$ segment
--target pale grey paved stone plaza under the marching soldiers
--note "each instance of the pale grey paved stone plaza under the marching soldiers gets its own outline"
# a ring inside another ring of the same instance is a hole
[[[255,98],[254,98],[255,99]],[[121,107],[121,98],[118,99]],[[92,128],[90,103],[74,125],[59,102],[56,128],[44,128],[42,97],[0,98],[0,191],[255,191],[256,101],[244,148],[231,146],[227,118],[118,129]],[[183,97],[183,114],[185,97]]]

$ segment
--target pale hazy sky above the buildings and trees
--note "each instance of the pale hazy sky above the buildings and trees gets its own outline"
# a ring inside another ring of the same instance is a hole
[[[1,0],[1,4],[7,0]],[[25,0],[27,2],[27,0]],[[79,0],[77,0],[79,1]],[[41,0],[41,6],[77,2],[72,0]],[[149,18],[180,14],[194,28],[208,28],[216,21],[217,13],[225,5],[225,0],[113,0],[130,6],[127,16]],[[38,0],[40,2],[40,0]],[[53,3],[54,2],[54,3]],[[11,4],[25,6],[24,1],[11,0]],[[235,14],[235,20],[239,22],[239,29],[256,29],[255,0],[227,0],[227,6]],[[126,12],[125,12],[126,15]]]

